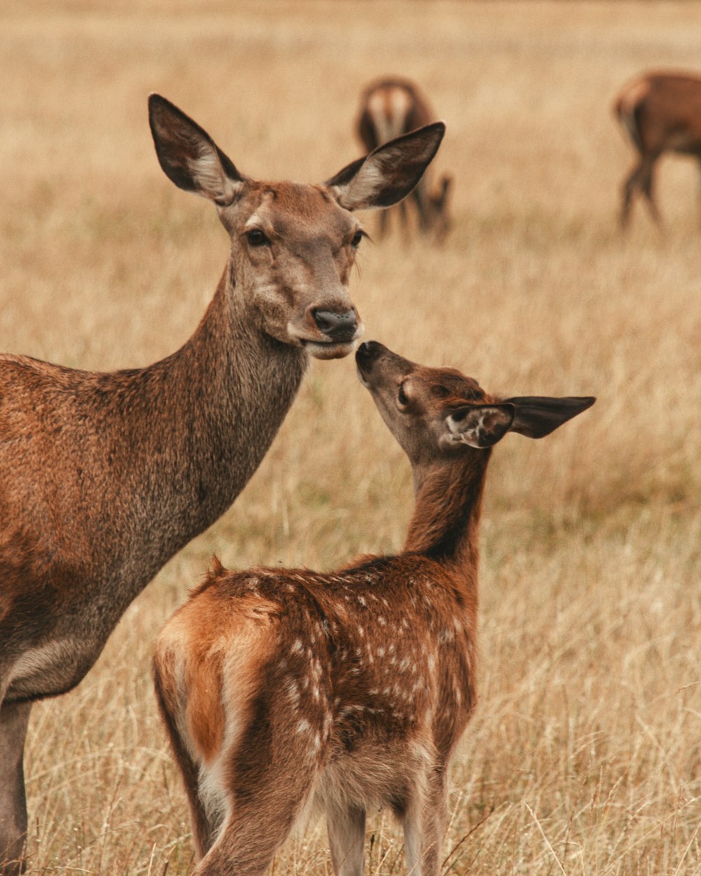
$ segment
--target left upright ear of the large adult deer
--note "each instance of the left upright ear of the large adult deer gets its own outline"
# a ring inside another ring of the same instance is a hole
[[[237,198],[247,178],[238,173],[207,131],[156,94],[149,96],[148,117],[160,166],[176,186],[220,206]]]

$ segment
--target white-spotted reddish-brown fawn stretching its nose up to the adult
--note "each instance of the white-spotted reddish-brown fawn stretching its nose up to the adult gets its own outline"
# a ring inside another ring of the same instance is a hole
[[[478,522],[492,445],[549,434],[594,399],[500,400],[379,343],[356,354],[414,470],[404,551],[334,574],[213,569],[161,632],[156,691],[188,793],[196,876],[262,876],[312,803],[339,876],[365,811],[404,824],[438,876],[450,759],[475,703]]]

